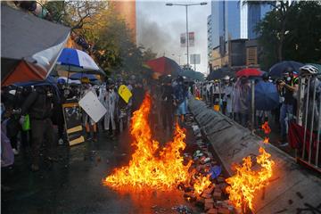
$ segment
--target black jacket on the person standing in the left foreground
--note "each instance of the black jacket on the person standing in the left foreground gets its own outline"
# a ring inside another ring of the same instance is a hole
[[[23,103],[21,115],[29,113],[30,119],[47,119],[52,116],[53,104],[57,103],[56,97],[48,97],[43,87],[33,91]]]

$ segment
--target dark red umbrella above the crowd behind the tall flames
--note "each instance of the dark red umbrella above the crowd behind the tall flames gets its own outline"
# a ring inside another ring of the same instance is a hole
[[[181,71],[181,68],[177,62],[169,59],[168,57],[160,57],[151,61],[145,62],[152,71],[159,73],[160,75],[172,75],[177,76]]]

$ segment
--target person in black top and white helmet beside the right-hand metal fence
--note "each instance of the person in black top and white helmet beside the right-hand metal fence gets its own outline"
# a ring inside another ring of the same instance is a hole
[[[284,70],[284,79],[278,81],[278,89],[283,97],[281,109],[280,109],[280,125],[281,125],[281,140],[280,146],[288,145],[286,139],[286,121],[292,119],[294,111],[294,105],[296,99],[294,93],[299,89],[299,78],[293,76],[293,69],[291,67]]]

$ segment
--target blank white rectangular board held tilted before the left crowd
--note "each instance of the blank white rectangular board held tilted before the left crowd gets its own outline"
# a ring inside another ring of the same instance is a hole
[[[103,115],[105,115],[107,112],[106,108],[98,100],[97,95],[95,95],[92,91],[89,91],[79,101],[79,105],[84,111],[86,111],[86,114],[88,114],[89,117],[95,121],[95,123],[98,122],[99,119],[103,118]]]

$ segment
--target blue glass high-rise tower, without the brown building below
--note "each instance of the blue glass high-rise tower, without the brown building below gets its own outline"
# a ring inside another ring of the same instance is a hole
[[[267,4],[244,4],[243,0],[212,1],[208,18],[209,61],[218,61],[218,55],[222,58],[229,49],[232,50],[227,41],[256,39],[258,35],[255,27],[270,10],[271,7]],[[216,53],[212,53],[213,49]]]

